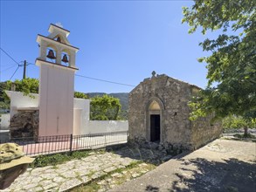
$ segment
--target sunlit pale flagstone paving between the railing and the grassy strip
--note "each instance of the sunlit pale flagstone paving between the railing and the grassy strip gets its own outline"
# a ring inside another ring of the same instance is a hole
[[[81,160],[57,166],[29,168],[10,188],[0,191],[65,191],[87,183],[117,168],[125,168],[137,160],[120,154],[92,154]]]

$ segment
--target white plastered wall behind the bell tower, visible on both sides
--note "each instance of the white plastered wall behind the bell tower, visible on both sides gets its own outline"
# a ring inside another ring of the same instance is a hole
[[[18,110],[38,109],[38,94],[31,94],[33,98],[24,96],[24,93],[6,91],[10,97],[10,117]],[[10,125],[10,119],[8,122]],[[5,125],[5,124],[4,124]],[[110,132],[128,131],[128,120],[90,120],[90,99],[73,99],[73,134],[101,134]]]

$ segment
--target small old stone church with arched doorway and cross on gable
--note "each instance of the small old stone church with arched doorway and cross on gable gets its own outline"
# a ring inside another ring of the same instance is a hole
[[[129,93],[128,129],[131,144],[155,142],[168,149],[195,150],[219,137],[222,127],[211,117],[190,121],[188,102],[199,87],[165,74],[144,79]]]

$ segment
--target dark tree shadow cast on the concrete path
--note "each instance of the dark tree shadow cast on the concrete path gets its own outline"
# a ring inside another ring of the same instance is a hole
[[[178,179],[172,183],[170,191],[256,191],[255,161],[229,159],[220,162],[202,158],[181,161],[183,168],[176,173]],[[158,191],[152,186],[145,190]]]

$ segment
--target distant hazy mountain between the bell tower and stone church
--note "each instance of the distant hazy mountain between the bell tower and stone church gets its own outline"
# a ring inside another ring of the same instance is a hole
[[[103,96],[104,94],[107,93],[86,93],[89,98],[93,98],[95,96]],[[110,95],[114,98],[118,98],[120,99],[120,103],[121,103],[121,110],[123,111],[128,111],[128,93],[109,93],[107,95]]]

